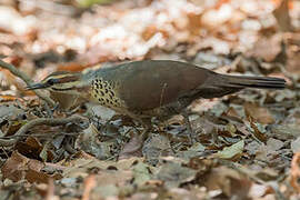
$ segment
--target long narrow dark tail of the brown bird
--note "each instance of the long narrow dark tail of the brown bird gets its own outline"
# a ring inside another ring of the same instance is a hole
[[[259,89],[284,89],[286,80],[273,77],[248,77],[222,74],[224,87],[229,88],[259,88]]]

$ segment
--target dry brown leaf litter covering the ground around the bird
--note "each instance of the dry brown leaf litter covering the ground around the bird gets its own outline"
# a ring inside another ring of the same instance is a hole
[[[288,82],[194,101],[192,146],[177,116],[153,119],[137,148],[142,128],[130,119],[89,103],[73,113],[49,108],[1,69],[0,199],[299,199],[298,1],[110,0],[82,9],[21,0],[0,10],[0,58],[33,80],[171,59]],[[32,120],[74,113],[88,120],[18,134]]]

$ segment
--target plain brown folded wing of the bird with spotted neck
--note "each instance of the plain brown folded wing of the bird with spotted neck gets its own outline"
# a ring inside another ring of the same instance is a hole
[[[149,110],[191,96],[213,73],[177,61],[138,61],[119,67],[119,94],[129,109]],[[213,73],[214,74],[214,73]]]

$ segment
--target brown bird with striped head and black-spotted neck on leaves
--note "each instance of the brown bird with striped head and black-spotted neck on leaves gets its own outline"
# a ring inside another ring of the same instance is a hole
[[[46,89],[60,108],[91,101],[138,120],[146,133],[151,118],[167,120],[182,114],[190,140],[196,136],[188,106],[203,98],[220,98],[244,88],[284,89],[286,80],[273,77],[221,74],[181,61],[142,60],[100,68],[86,73],[58,71],[28,90]]]

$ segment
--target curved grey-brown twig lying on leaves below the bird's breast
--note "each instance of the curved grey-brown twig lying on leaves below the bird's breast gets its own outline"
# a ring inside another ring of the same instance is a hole
[[[18,132],[16,132],[14,137],[26,134],[28,130],[30,130],[31,128],[33,128],[36,126],[41,126],[41,124],[62,126],[62,124],[67,124],[67,123],[70,123],[70,122],[81,122],[83,120],[86,120],[86,119],[80,117],[80,116],[72,116],[72,117],[63,118],[63,119],[61,119],[61,118],[59,118],[59,119],[39,118],[39,119],[31,120],[27,124],[21,127],[18,130]],[[10,139],[10,140],[0,139],[0,147],[13,146],[17,141],[18,141],[18,139]]]

